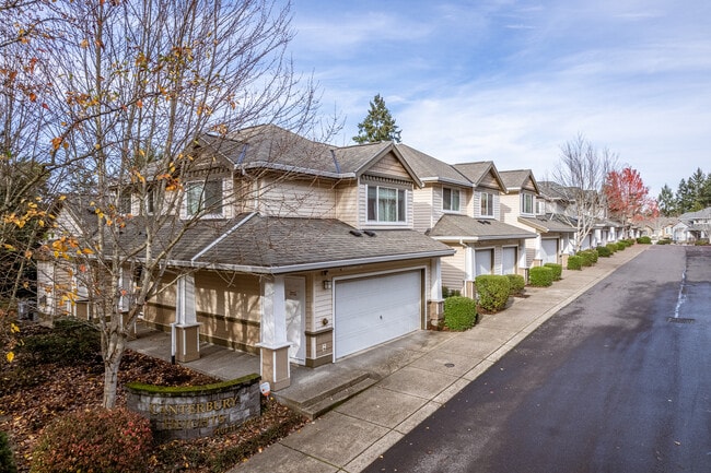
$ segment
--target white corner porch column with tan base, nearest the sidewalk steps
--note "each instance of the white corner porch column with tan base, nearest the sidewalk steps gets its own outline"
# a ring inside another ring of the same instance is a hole
[[[269,382],[271,390],[277,391],[291,385],[283,275],[265,281],[261,299],[261,342],[257,345],[260,348],[260,375],[263,380]]]

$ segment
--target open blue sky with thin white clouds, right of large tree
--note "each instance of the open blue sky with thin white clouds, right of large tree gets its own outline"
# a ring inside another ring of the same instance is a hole
[[[293,0],[296,69],[352,143],[381,94],[404,143],[549,177],[584,134],[656,197],[711,172],[708,0]]]

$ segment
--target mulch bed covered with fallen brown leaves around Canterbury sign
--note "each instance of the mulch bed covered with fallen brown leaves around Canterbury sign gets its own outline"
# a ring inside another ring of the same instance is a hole
[[[44,328],[23,328],[23,336]],[[19,472],[28,472],[32,451],[44,426],[57,416],[101,405],[101,359],[65,366],[22,363],[22,353],[8,364],[0,362],[0,430],[8,433]],[[126,405],[125,382],[159,386],[199,386],[219,381],[179,365],[172,365],[126,351],[119,373],[117,406]],[[263,415],[229,435],[156,445],[150,468],[153,473],[223,472],[266,446],[301,428],[307,419],[263,397]]]

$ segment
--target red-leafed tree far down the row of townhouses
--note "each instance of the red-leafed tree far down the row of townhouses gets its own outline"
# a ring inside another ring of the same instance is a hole
[[[644,186],[639,172],[631,167],[608,173],[604,191],[610,214],[621,220],[625,232],[630,223],[641,222],[649,216],[650,210],[656,208],[649,197],[649,187]]]

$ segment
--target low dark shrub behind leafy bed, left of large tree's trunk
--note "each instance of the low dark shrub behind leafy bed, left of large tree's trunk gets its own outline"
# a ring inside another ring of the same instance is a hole
[[[23,340],[20,351],[25,364],[58,363],[75,365],[101,359],[101,335],[86,322],[60,319],[48,333],[38,333]]]

